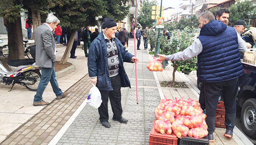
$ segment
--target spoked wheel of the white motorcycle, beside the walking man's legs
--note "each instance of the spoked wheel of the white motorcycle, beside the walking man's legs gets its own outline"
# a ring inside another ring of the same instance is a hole
[[[27,77],[34,77],[36,78],[36,82],[34,84],[25,84],[25,87],[31,91],[36,91],[38,88],[38,84],[41,80],[41,73],[39,72],[39,70],[29,70],[27,72],[24,73],[25,76]]]

